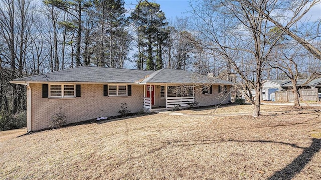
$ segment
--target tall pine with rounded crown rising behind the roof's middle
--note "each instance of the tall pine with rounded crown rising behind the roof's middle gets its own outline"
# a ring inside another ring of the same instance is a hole
[[[168,35],[165,27],[168,22],[160,6],[147,1],[141,2],[131,13],[130,19],[134,23],[138,36],[138,69],[143,69],[143,57],[146,57],[145,69],[162,69],[163,46]]]

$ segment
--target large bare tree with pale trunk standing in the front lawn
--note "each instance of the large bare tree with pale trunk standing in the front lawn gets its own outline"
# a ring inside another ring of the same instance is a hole
[[[253,105],[254,117],[260,115],[262,72],[270,53],[282,34],[289,33],[289,27],[309,10],[308,7],[302,13],[309,1],[296,3],[247,0],[195,3],[194,25],[201,35],[202,46],[221,56],[242,79],[243,89],[247,90],[244,95]],[[293,11],[290,18],[278,16],[286,11]],[[274,15],[280,20],[288,18],[290,23],[286,28],[278,27],[272,21]],[[270,30],[275,26],[281,32],[270,36]],[[252,96],[251,89],[255,89],[256,97]]]

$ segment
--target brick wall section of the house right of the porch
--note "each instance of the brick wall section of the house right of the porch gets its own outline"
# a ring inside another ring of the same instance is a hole
[[[215,104],[227,104],[230,101],[230,88],[227,86],[227,93],[219,94],[219,85],[212,85],[212,94],[202,94],[202,88],[195,88],[195,101],[198,102],[198,106],[210,106]]]

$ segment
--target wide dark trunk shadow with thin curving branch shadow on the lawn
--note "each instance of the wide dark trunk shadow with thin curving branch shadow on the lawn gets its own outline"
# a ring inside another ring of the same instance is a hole
[[[232,141],[232,142],[259,142],[259,143],[279,143],[284,145],[290,145],[294,148],[304,149],[303,152],[297,156],[291,163],[286,165],[283,169],[276,171],[272,176],[268,177],[269,180],[274,179],[292,179],[296,174],[298,174],[306,164],[310,162],[314,154],[320,151],[321,149],[321,139],[312,138],[312,143],[309,147],[301,147],[296,144],[278,142],[278,141],[269,141],[269,140],[233,140],[233,139],[217,139],[217,140],[201,140],[199,143],[188,143],[195,141],[174,141],[174,143],[183,143],[177,144],[177,146],[189,146],[189,145],[200,145],[200,144],[212,144],[219,141]]]

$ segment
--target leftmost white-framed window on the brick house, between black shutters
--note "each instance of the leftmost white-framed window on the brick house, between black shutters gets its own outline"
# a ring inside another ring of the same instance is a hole
[[[64,97],[76,97],[75,84],[50,84],[49,97],[52,98],[64,98]]]

